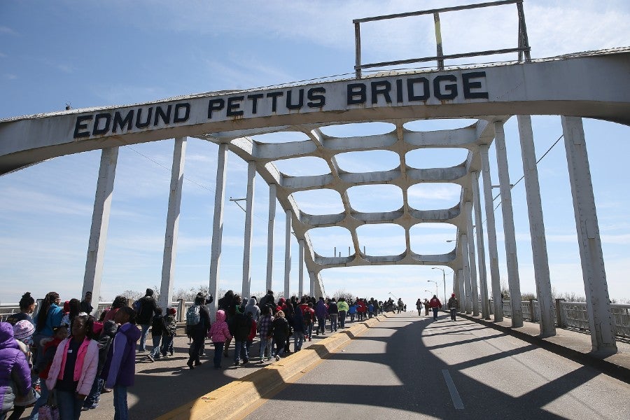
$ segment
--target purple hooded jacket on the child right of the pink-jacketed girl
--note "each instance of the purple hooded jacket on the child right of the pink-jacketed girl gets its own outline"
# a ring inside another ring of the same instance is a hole
[[[105,387],[132,386],[136,376],[136,342],[140,330],[132,323],[120,325],[113,343],[109,347],[109,356],[101,374]]]

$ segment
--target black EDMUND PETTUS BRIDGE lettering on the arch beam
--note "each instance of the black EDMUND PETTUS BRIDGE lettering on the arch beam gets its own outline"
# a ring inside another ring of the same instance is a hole
[[[193,123],[202,123],[203,120],[260,117],[274,113],[326,111],[327,94],[331,91],[335,95],[345,94],[342,106],[347,108],[394,103],[427,104],[430,99],[440,101],[437,104],[462,97],[465,100],[488,99],[485,71],[379,78],[360,82],[347,80],[342,83],[342,89],[330,89],[333,86],[329,85],[338,85],[337,82],[285,90],[239,92],[209,99],[191,98],[186,102],[165,102],[84,114],[76,117],[73,138],[176,127],[186,125],[191,120]]]

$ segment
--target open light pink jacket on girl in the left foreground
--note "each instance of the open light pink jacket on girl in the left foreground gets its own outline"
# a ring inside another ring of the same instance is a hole
[[[70,339],[66,338],[59,343],[55,358],[52,359],[46,386],[48,389],[55,388],[57,379],[64,377],[64,368],[66,367],[66,354],[70,345]],[[95,339],[84,339],[81,343],[76,356],[76,364],[74,365],[74,380],[78,381],[76,392],[81,395],[89,395],[92,390],[92,383],[97,374],[99,365],[99,344]]]

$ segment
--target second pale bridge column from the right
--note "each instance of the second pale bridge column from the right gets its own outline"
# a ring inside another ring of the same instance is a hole
[[[525,176],[525,193],[527,197],[534,278],[536,281],[536,297],[538,298],[538,304],[540,304],[540,335],[549,337],[556,335],[554,300],[552,298],[551,280],[549,279],[547,239],[545,239],[545,223],[542,218],[542,202],[540,201],[540,185],[538,184],[538,168],[536,167],[531,116],[517,116],[517,120],[519,123],[523,174]]]

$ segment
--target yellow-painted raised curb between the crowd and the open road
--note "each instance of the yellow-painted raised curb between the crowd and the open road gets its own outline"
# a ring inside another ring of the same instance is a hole
[[[157,420],[238,419],[246,413],[249,406],[279,391],[282,386],[290,383],[293,377],[306,373],[321,359],[328,357],[340,346],[348,344],[351,339],[379,322],[379,317],[374,317],[337,331],[337,334],[326,337],[317,344],[291,353],[286,358],[162,414]]]

